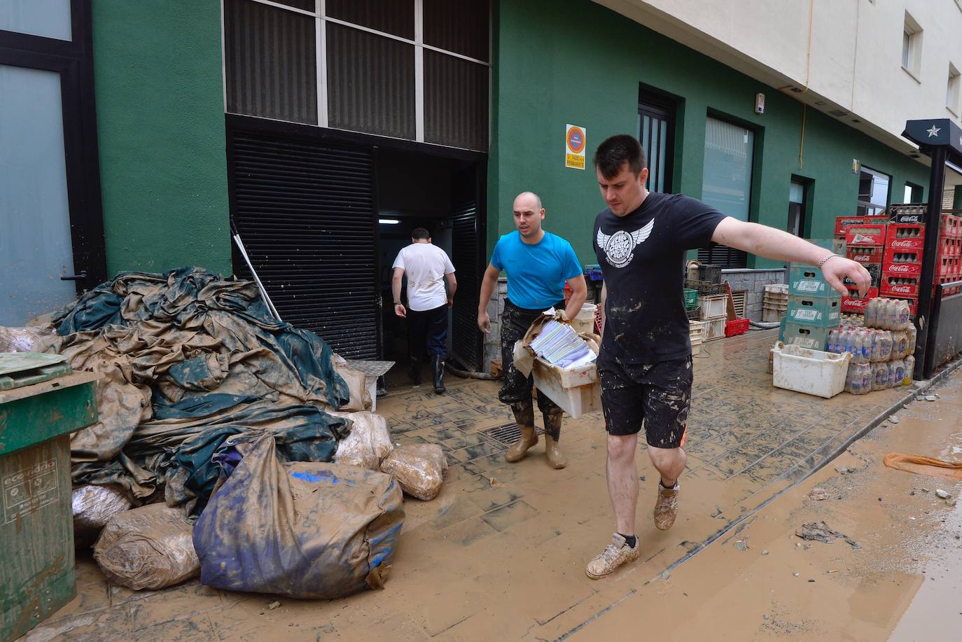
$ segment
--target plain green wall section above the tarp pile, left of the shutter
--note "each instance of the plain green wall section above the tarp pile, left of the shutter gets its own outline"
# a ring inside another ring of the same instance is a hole
[[[220,3],[96,0],[107,266],[231,272]]]

